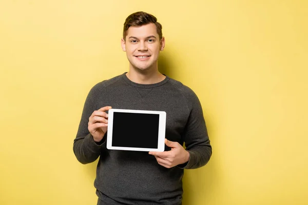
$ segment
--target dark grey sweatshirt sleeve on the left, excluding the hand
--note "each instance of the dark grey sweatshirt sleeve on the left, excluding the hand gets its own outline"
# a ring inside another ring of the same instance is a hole
[[[101,149],[106,143],[106,137],[103,137],[101,142],[95,142],[93,136],[88,131],[89,117],[94,111],[94,99],[98,93],[98,85],[94,86],[90,90],[84,104],[78,132],[76,134],[76,138],[74,139],[74,154],[78,161],[83,164],[95,161],[100,156]]]

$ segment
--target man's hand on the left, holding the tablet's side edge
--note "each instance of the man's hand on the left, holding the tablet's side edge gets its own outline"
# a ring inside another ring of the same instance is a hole
[[[111,109],[111,107],[106,106],[99,110],[95,110],[89,117],[88,130],[96,142],[100,142],[107,132],[108,114],[105,111],[109,109]]]

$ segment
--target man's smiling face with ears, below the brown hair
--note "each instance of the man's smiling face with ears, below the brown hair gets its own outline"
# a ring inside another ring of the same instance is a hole
[[[130,63],[129,67],[145,71],[157,69],[159,52],[164,50],[165,38],[159,39],[155,24],[129,27],[122,49]]]

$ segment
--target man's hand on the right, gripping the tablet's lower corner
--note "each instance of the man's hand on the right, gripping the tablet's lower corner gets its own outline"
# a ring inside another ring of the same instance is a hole
[[[171,148],[170,151],[149,152],[149,154],[155,156],[157,162],[161,166],[171,168],[188,161],[189,152],[187,152],[178,142],[165,139],[165,144]]]

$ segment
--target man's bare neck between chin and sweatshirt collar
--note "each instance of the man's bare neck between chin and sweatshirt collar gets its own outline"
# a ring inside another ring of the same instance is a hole
[[[128,79],[138,84],[156,84],[163,81],[166,76],[156,70],[147,70],[138,72],[135,69],[129,69],[126,73]]]

